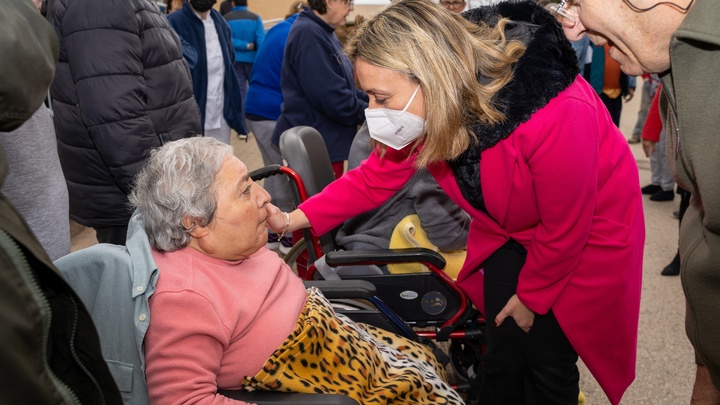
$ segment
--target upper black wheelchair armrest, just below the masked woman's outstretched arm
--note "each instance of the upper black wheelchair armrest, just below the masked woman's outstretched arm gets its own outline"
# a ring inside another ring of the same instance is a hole
[[[333,267],[350,264],[419,262],[431,264],[438,269],[445,268],[445,258],[439,253],[426,248],[338,250],[327,253],[325,261]]]

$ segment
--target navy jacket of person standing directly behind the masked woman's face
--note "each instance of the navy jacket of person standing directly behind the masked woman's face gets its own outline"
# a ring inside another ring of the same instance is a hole
[[[322,135],[331,161],[346,160],[358,125],[365,121],[368,97],[355,87],[352,64],[335,29],[310,9],[290,29],[281,86],[284,105],[273,143],[288,128],[308,125]]]

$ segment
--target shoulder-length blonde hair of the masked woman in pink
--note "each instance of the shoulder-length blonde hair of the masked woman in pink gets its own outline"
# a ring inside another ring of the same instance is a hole
[[[351,61],[405,73],[422,86],[428,126],[418,167],[455,159],[477,142],[473,122],[505,119],[493,98],[525,51],[506,40],[506,23],[478,26],[431,0],[398,0],[349,39]]]

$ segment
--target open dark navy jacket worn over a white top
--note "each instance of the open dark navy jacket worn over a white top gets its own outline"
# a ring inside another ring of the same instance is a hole
[[[220,39],[220,48],[223,53],[223,61],[225,63],[225,103],[223,105],[223,117],[228,122],[230,128],[234,129],[238,134],[247,134],[245,123],[242,120],[242,96],[240,95],[240,85],[235,76],[235,49],[232,46],[230,37],[230,27],[228,27],[225,19],[215,10],[210,10],[209,17],[215,23],[215,29]],[[193,93],[195,99],[200,106],[200,114],[202,116],[202,127],[205,128],[205,105],[207,103],[207,50],[205,49],[205,27],[200,18],[195,14],[189,3],[183,3],[182,9],[170,13],[168,15],[170,26],[177,32],[178,36],[189,46],[183,46],[183,56],[188,62],[192,61],[192,57],[197,56],[197,62],[191,69],[193,79]],[[185,44],[183,44],[185,45]],[[193,50],[194,53],[188,53]]]

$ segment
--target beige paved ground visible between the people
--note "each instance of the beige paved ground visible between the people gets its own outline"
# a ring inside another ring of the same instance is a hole
[[[635,123],[639,98],[625,104],[621,129],[629,136]],[[260,153],[250,136],[248,142],[233,139],[236,156],[252,170],[262,166]],[[650,164],[639,144],[631,145],[640,170],[641,185],[649,183]],[[677,210],[674,202],[650,202],[644,197],[647,239],[643,266],[637,378],[625,394],[623,405],[677,405],[689,403],[694,377],[692,348],[685,337],[685,302],[679,277],[660,276],[677,249]],[[96,243],[92,229],[73,225],[73,250]],[[612,299],[612,297],[608,297]],[[607,339],[613,331],[605,332]],[[609,401],[587,369],[581,368],[581,389],[588,405]]]

